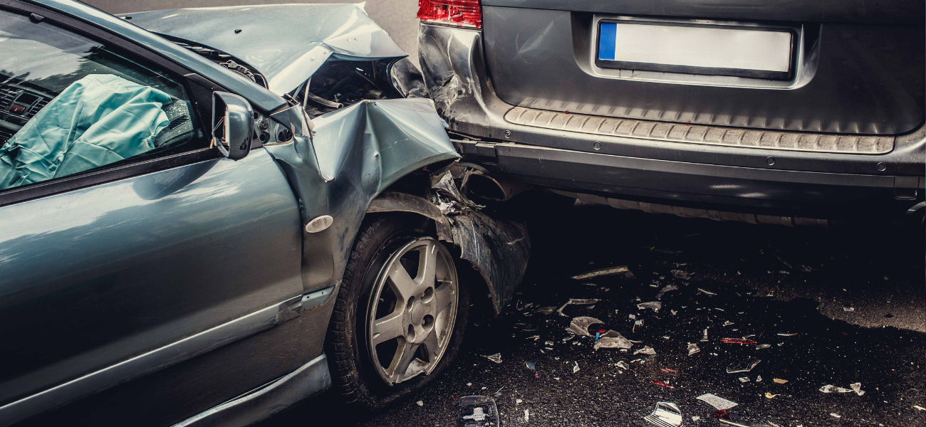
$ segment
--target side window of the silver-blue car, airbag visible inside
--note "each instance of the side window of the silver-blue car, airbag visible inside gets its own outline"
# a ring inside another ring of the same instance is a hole
[[[183,85],[0,10],[0,191],[205,146]]]

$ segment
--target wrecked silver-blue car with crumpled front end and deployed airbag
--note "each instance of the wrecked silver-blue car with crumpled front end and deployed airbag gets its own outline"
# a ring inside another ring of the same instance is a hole
[[[0,52],[0,426],[379,409],[524,275],[362,5],[9,0]]]

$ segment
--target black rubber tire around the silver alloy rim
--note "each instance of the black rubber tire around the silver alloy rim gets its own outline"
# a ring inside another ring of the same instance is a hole
[[[429,223],[414,214],[384,214],[364,221],[344,272],[325,340],[334,388],[352,409],[382,409],[418,391],[441,374],[456,358],[469,314],[469,286],[458,274],[457,318],[443,357],[430,374],[419,374],[398,384],[387,384],[372,363],[366,340],[369,294],[382,266],[408,242],[431,237]],[[447,248],[450,249],[450,248]],[[455,252],[451,250],[451,253]],[[458,260],[458,257],[454,257]],[[457,270],[461,265],[457,262]],[[468,267],[469,268],[469,267]],[[471,268],[470,268],[471,269]],[[461,272],[462,273],[462,272]]]

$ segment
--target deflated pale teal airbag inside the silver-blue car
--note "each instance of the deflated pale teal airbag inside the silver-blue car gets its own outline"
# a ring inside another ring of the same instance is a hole
[[[0,189],[65,177],[155,148],[172,101],[112,74],[71,83],[0,148]]]

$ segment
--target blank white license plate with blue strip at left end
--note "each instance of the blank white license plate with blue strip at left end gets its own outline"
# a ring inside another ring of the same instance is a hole
[[[790,78],[795,34],[781,29],[600,21],[598,67]]]

